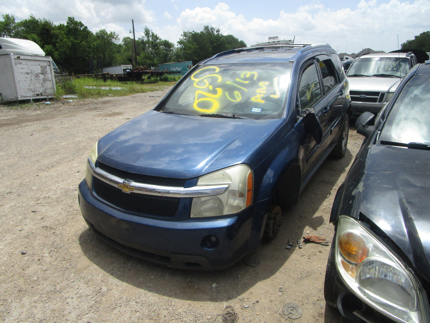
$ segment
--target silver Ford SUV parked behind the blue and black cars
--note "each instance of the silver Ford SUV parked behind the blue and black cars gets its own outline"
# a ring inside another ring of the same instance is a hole
[[[355,59],[347,71],[351,115],[375,115],[390,101],[408,71],[417,64],[414,53],[374,53]]]

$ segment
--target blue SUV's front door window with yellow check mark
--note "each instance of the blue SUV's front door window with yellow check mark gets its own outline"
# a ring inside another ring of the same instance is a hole
[[[313,106],[322,96],[321,87],[319,86],[318,71],[316,65],[308,65],[301,75],[300,85],[298,88],[298,97],[300,109],[304,110]]]

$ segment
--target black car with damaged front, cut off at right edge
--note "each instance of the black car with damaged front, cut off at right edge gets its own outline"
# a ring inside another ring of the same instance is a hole
[[[342,321],[430,322],[430,61],[378,114],[333,203],[324,283]]]

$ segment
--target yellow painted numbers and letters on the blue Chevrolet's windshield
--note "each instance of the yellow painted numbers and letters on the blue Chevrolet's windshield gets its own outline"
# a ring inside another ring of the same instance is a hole
[[[279,78],[267,79],[264,74],[267,73],[230,70],[227,74],[216,66],[200,68],[191,75],[196,88],[193,108],[203,113],[214,113],[228,102],[246,101],[257,102],[264,108],[267,98],[279,98]]]

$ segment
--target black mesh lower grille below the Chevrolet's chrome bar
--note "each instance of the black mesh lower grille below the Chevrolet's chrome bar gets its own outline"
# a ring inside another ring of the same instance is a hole
[[[122,189],[93,177],[94,193],[104,201],[126,211],[142,214],[173,216],[178,211],[179,198],[124,193]]]

